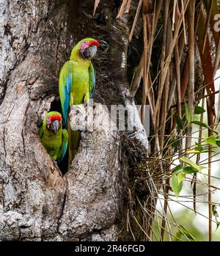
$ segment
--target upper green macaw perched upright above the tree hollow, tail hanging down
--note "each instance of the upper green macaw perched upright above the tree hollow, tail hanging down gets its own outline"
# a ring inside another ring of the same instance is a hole
[[[70,106],[79,105],[92,98],[95,89],[95,70],[91,59],[95,57],[98,41],[81,40],[74,48],[70,61],[65,62],[59,75],[59,96],[65,128],[69,134],[69,167],[78,150],[80,131],[71,131],[68,114]]]

